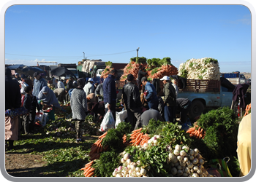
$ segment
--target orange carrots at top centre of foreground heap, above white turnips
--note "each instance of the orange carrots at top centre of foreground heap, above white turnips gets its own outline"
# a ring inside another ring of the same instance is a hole
[[[142,130],[142,127],[140,127],[137,130],[133,130],[130,139],[132,141],[130,141],[129,143],[132,143],[132,146],[143,146],[144,143],[147,143],[148,140],[150,139],[150,137],[148,136],[148,134],[143,134],[143,132],[140,132]]]

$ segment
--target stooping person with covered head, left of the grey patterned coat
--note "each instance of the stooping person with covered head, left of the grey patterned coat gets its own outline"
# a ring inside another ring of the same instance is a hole
[[[48,86],[42,87],[38,94],[39,106],[41,106],[42,110],[46,110],[47,108],[51,108],[52,110],[48,112],[48,119],[54,121],[55,117],[55,108],[61,108],[59,105],[59,101],[56,98],[53,90],[51,90]],[[61,108],[64,111],[63,108]]]

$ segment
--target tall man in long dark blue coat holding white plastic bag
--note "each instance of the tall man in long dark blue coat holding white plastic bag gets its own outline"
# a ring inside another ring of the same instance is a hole
[[[116,121],[116,79],[117,70],[113,69],[108,77],[103,82],[103,97],[104,103],[108,104],[108,108],[106,108],[106,113],[110,110],[113,114],[113,117]]]

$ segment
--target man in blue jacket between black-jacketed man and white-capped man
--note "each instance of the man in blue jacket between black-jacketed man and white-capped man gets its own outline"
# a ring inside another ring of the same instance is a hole
[[[142,84],[145,86],[145,100],[148,102],[149,108],[154,108],[158,111],[158,98],[157,98],[157,91],[153,84],[148,82],[146,77],[141,79]]]

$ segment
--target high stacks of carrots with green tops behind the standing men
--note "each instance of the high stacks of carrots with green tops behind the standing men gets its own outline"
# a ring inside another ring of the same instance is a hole
[[[170,58],[168,57],[162,59],[140,57],[130,59],[130,62],[124,68],[124,74],[120,80],[124,81],[127,79],[128,74],[132,74],[137,79],[140,65],[146,68],[148,80],[161,79],[163,76],[178,74],[178,69],[170,63]]]

